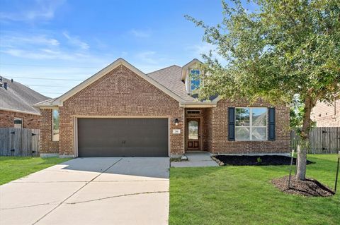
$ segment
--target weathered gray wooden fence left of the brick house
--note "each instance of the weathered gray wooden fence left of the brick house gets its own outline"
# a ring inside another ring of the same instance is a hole
[[[40,130],[0,128],[0,155],[28,157],[39,155]]]

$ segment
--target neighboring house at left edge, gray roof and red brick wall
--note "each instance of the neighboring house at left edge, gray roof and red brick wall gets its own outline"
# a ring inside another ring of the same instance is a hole
[[[0,77],[0,128],[40,128],[40,110],[33,104],[48,99],[16,81]]]

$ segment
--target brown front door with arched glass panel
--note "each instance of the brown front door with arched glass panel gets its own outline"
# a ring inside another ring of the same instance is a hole
[[[200,118],[186,120],[186,140],[188,150],[200,150]]]

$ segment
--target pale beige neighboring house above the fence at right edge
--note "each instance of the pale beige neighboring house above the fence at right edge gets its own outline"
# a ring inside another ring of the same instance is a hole
[[[331,103],[317,102],[311,118],[318,127],[340,127],[340,95]]]

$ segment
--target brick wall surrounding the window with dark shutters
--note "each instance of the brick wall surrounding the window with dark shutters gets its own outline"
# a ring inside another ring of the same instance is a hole
[[[249,154],[249,153],[287,153],[290,152],[290,114],[288,107],[276,106],[276,140],[274,141],[228,141],[227,125],[228,107],[268,107],[262,101],[249,106],[248,102],[239,100],[230,102],[220,100],[217,107],[212,108],[212,147],[213,153]]]

